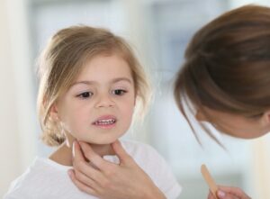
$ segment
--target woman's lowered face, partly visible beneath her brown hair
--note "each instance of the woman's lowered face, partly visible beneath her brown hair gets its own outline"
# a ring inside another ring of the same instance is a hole
[[[203,107],[205,113],[211,117],[211,124],[221,132],[233,137],[252,139],[265,135],[270,131],[270,115],[252,118],[234,113],[224,113]],[[196,119],[201,122],[210,122],[201,111],[197,111]]]

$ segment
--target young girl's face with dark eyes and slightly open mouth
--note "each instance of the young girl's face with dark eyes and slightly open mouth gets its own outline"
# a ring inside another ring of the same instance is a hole
[[[93,144],[117,140],[130,127],[134,87],[130,67],[120,56],[90,59],[56,104],[67,136]]]

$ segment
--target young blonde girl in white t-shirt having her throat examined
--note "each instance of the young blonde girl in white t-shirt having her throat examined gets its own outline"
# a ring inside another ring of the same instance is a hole
[[[39,69],[42,140],[58,149],[49,158],[36,158],[4,198],[96,198],[94,192],[80,191],[67,175],[73,143],[75,151],[75,140],[87,142],[99,156],[119,163],[111,144],[130,128],[135,105],[147,104],[144,71],[126,41],[87,26],[57,32],[41,55]],[[181,187],[156,150],[137,142],[121,144],[166,198],[180,194]],[[88,166],[96,168],[91,161]]]

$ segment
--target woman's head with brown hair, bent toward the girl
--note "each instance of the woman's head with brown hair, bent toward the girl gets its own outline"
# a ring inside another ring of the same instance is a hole
[[[190,102],[197,119],[236,137],[258,137],[269,131],[269,52],[268,7],[246,5],[206,24],[193,36],[175,81],[175,100],[181,112],[186,117],[184,104]],[[219,128],[223,122],[212,111],[264,126],[246,135],[245,128],[229,131]]]

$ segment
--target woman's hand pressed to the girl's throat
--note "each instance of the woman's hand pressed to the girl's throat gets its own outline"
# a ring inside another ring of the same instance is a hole
[[[112,143],[112,149],[120,159],[119,165],[98,156],[85,142],[75,141],[74,144],[74,169],[68,174],[81,191],[102,199],[166,198],[121,147],[120,141]]]

